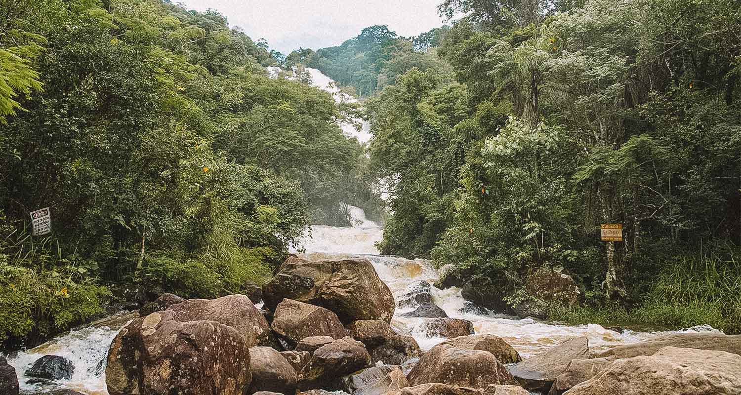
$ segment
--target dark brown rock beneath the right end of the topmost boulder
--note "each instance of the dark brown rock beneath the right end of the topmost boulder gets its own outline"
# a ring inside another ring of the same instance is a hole
[[[373,363],[402,365],[419,358],[422,351],[412,336],[396,333],[382,320],[361,320],[348,325],[350,337],[362,342],[371,353]]]

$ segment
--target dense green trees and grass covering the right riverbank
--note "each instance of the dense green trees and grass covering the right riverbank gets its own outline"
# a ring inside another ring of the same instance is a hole
[[[590,307],[553,317],[740,331],[737,4],[439,10],[468,15],[436,50],[454,74],[412,69],[367,103],[371,163],[391,191],[382,253],[431,256],[492,295],[564,267]],[[625,242],[600,242],[603,223],[623,224]]]

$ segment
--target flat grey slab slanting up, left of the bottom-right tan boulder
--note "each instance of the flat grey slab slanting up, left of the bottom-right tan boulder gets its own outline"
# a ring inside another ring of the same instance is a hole
[[[566,371],[572,359],[589,357],[586,336],[576,337],[509,368],[522,387],[530,391],[548,393],[556,377]]]

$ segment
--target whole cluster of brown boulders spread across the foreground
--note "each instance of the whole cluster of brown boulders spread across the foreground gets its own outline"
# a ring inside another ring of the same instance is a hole
[[[413,284],[405,307],[441,315],[428,290]],[[245,295],[160,296],[113,339],[109,394],[741,394],[741,336],[677,333],[603,352],[582,336],[522,360],[504,339],[441,316],[422,329],[447,339],[422,352],[390,325],[393,296],[365,259],[292,257],[261,293],[265,310]],[[30,371],[71,376],[59,358]],[[0,394],[18,394],[2,358]]]

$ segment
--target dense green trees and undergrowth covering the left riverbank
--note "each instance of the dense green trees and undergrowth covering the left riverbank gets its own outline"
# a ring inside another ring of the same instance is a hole
[[[336,189],[362,148],[339,124],[356,108],[268,78],[275,53],[219,13],[0,11],[0,340],[99,313],[105,285],[240,291],[311,221],[347,222]],[[53,233],[30,236],[28,213],[47,206]]]

